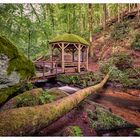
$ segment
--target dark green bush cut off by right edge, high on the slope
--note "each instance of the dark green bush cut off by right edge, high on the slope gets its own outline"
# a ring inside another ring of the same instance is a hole
[[[135,50],[140,50],[140,34],[136,34],[131,46]]]

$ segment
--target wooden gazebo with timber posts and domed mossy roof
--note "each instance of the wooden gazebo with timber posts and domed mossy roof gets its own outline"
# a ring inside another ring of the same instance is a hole
[[[66,69],[76,68],[78,72],[81,69],[88,70],[88,49],[89,44],[80,36],[65,33],[57,36],[50,42],[51,59],[53,60],[54,50],[59,50],[59,63],[62,67],[62,72]],[[68,55],[71,54],[71,59],[68,60]]]

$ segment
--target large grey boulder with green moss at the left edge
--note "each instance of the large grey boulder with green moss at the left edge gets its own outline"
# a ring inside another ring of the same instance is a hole
[[[0,36],[0,104],[34,74],[33,63],[8,39]]]

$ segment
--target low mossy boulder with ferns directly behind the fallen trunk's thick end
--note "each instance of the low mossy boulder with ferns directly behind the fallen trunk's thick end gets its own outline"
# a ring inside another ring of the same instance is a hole
[[[12,108],[42,105],[56,101],[66,96],[67,93],[61,91],[58,88],[52,88],[46,91],[44,91],[42,88],[35,88],[29,91],[25,91],[24,93],[10,99],[0,108],[0,111]]]

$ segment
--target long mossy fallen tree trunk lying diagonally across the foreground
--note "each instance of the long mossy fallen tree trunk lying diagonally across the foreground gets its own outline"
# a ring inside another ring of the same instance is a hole
[[[88,95],[101,89],[109,75],[97,85],[79,90],[55,102],[35,106],[10,109],[0,113],[0,135],[33,135],[68,113]]]

